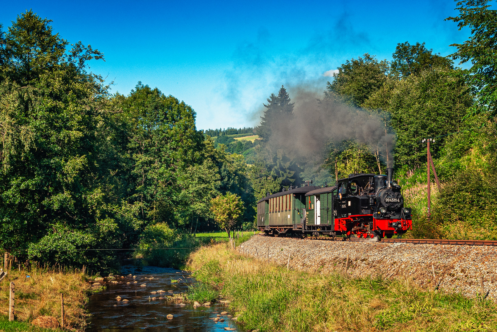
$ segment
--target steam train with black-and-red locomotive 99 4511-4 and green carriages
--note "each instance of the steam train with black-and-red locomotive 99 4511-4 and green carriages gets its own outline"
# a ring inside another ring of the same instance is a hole
[[[266,234],[391,238],[412,229],[401,186],[387,175],[350,174],[332,187],[283,189],[257,202],[257,227]]]

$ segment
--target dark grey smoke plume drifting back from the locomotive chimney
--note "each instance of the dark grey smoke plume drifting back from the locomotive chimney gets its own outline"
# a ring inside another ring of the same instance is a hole
[[[393,166],[395,134],[377,113],[353,108],[322,94],[299,90],[292,119],[279,119],[271,128],[269,146],[283,149],[290,158],[323,156],[330,141],[354,139],[367,144],[388,167]]]

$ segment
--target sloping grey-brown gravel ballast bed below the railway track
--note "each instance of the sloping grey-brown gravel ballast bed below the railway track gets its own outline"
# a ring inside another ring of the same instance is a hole
[[[257,248],[257,251],[255,250]],[[461,292],[475,297],[484,292],[497,299],[496,267],[497,247],[467,245],[435,245],[411,243],[382,243],[355,241],[327,241],[252,236],[237,250],[261,260],[286,265],[290,254],[290,267],[315,273],[345,270],[352,277],[383,276],[386,278],[413,278],[423,288],[433,289],[436,284],[447,292]],[[432,265],[435,271],[433,280]]]

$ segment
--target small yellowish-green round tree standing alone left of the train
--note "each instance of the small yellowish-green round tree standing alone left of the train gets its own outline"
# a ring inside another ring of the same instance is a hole
[[[237,194],[227,193],[211,200],[214,221],[219,227],[224,228],[231,238],[230,232],[244,213],[244,204]]]

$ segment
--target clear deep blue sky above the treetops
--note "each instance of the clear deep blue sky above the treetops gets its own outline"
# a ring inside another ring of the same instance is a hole
[[[391,59],[397,43],[448,55],[468,31],[453,1],[4,1],[4,29],[33,9],[55,32],[105,55],[91,71],[128,94],[141,81],[183,100],[197,128],[256,125],[285,85],[324,91],[325,73],[368,52]]]

